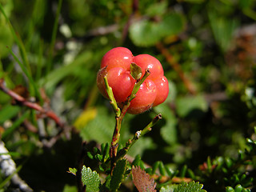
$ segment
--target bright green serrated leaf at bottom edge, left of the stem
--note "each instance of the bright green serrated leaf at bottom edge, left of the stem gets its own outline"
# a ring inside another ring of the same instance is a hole
[[[88,192],[98,192],[100,187],[100,179],[98,173],[92,171],[90,167],[82,166],[82,183],[86,186]]]

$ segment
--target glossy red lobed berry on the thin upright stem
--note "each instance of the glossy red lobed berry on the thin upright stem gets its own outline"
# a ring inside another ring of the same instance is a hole
[[[164,102],[169,93],[168,80],[164,76],[162,65],[157,58],[149,54],[133,56],[130,50],[125,47],[109,50],[102,58],[101,69],[97,75],[97,86],[102,95],[108,98],[104,82],[104,76],[106,76],[118,106],[122,107],[136,82],[130,74],[132,62],[141,67],[142,76],[146,69],[150,70],[150,75],[140,86],[136,97],[130,102],[127,110],[130,114],[140,114],[150,110],[152,106],[158,106]]]

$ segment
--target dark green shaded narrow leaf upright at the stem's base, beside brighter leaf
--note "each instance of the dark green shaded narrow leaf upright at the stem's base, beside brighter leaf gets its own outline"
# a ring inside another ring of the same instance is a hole
[[[126,173],[126,163],[127,160],[125,158],[119,160],[117,165],[114,167],[113,176],[110,182],[111,191],[117,191],[119,186],[122,183],[123,175]]]

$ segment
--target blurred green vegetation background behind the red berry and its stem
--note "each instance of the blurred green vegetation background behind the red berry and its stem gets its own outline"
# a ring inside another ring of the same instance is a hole
[[[59,127],[49,118],[38,120],[34,110],[12,105],[0,92],[2,141],[35,191],[75,191],[75,178],[66,171],[76,166],[82,141],[110,142],[114,113],[95,78],[102,56],[115,46],[158,58],[170,81],[166,102],[126,115],[122,144],[156,114],[163,116],[132,147],[131,157],[140,154],[149,165],[162,161],[174,170],[184,164],[196,170],[207,157],[236,158],[246,149],[246,138],[255,137],[254,0],[0,4],[0,78],[9,89],[26,87],[29,97],[74,126],[70,138],[62,135],[46,147],[43,140],[54,138]],[[205,189],[217,191],[214,185]]]

